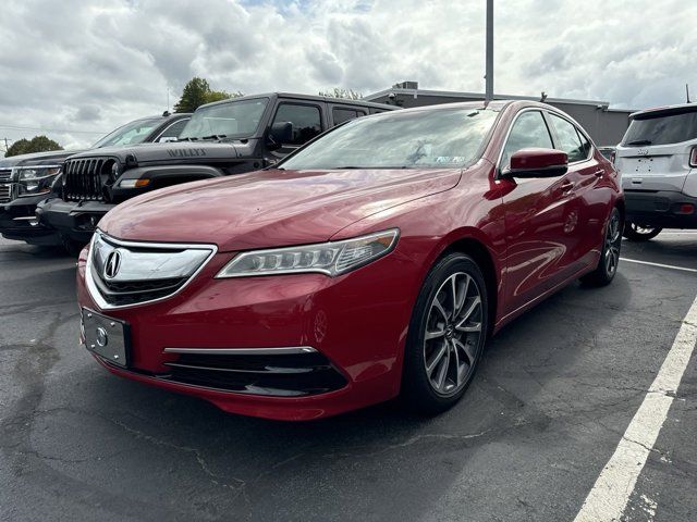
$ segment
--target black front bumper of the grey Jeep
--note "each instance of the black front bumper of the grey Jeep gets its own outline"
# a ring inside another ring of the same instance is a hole
[[[74,202],[53,198],[40,202],[36,215],[41,225],[58,231],[62,237],[88,243],[99,220],[114,207],[99,201]]]

